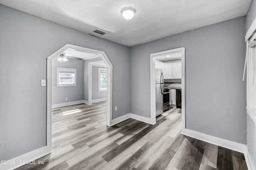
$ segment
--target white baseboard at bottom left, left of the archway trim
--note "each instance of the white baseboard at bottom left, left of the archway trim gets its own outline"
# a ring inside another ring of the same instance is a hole
[[[27,162],[31,162],[31,164],[32,164],[33,160],[41,158],[42,156],[45,156],[45,155],[50,154],[50,153],[51,153],[51,151],[47,150],[47,146],[39,148],[39,149],[36,149],[36,150],[33,150],[31,152],[28,152],[26,154],[23,154],[21,156],[18,156],[16,158],[8,160],[8,162],[12,162],[13,164],[0,164],[0,170],[13,170],[13,169],[16,169],[16,168],[26,164],[25,163],[26,161]],[[21,161],[24,161],[24,164]]]

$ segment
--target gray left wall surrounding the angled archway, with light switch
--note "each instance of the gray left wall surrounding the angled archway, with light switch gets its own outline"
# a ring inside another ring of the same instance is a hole
[[[106,53],[113,65],[112,107],[118,106],[112,118],[130,113],[130,86],[123,83],[130,82],[129,47],[3,5],[0,23],[0,71],[6,73],[0,79],[0,160],[46,146],[46,87],[40,80],[46,79],[46,58],[66,43]]]

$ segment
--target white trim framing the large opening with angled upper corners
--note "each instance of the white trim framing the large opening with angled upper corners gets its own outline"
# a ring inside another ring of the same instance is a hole
[[[107,119],[106,125],[110,126],[112,121],[112,64],[109,61],[104,51],[98,51],[94,49],[88,49],[76,45],[66,44],[62,48],[58,49],[52,55],[47,58],[47,151],[52,150],[52,59],[55,59],[60,53],[66,49],[77,49],[86,53],[92,53],[99,55],[107,66],[108,82],[107,82]]]

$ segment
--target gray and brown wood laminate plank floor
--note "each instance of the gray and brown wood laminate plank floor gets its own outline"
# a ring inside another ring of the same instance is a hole
[[[106,102],[52,113],[52,153],[18,170],[247,170],[244,154],[181,135],[181,109],[155,125],[127,119],[112,127]]]

